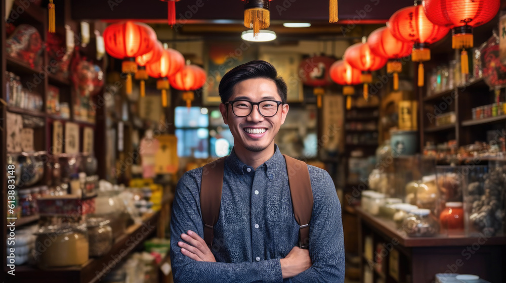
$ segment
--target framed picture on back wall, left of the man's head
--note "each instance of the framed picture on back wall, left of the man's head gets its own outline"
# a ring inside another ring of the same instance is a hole
[[[204,105],[220,104],[218,86],[222,77],[234,67],[258,58],[257,46],[247,41],[211,41],[204,46],[207,80],[203,86]]]

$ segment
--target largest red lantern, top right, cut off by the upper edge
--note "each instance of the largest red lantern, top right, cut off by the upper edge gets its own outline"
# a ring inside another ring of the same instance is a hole
[[[460,70],[469,73],[468,53],[473,48],[473,28],[491,19],[499,11],[499,0],[425,0],[427,18],[436,25],[451,28],[453,49],[462,49]]]

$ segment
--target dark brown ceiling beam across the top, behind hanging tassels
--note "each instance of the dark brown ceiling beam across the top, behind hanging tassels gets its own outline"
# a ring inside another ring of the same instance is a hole
[[[340,0],[340,23],[385,23],[400,8],[413,5],[412,0]],[[200,8],[196,6],[200,3]],[[328,23],[329,0],[273,0],[271,21]],[[185,23],[215,20],[241,21],[244,3],[240,0],[182,0],[176,3],[176,19]],[[136,19],[165,21],[167,3],[159,0],[87,0],[72,1],[72,18],[76,20]]]

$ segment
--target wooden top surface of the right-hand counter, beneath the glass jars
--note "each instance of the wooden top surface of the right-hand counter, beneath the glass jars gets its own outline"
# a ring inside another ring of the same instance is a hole
[[[355,207],[355,211],[371,227],[390,239],[397,239],[403,247],[471,246],[474,243],[478,243],[480,239],[478,237],[446,237],[444,235],[436,237],[408,237],[403,231],[397,229],[393,220],[373,216],[360,207]],[[483,241],[483,239],[480,241]],[[490,237],[483,245],[506,245],[506,237]]]

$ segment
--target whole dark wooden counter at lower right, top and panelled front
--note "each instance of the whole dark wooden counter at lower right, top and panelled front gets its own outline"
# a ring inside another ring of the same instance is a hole
[[[445,272],[476,274],[490,282],[506,279],[506,269],[503,268],[506,266],[506,237],[414,238],[397,229],[393,220],[373,216],[360,207],[355,211],[359,254],[363,259],[362,282],[366,282],[366,269],[372,273],[374,283],[432,283],[436,273]],[[371,239],[372,255],[370,250],[366,255],[365,241]]]

